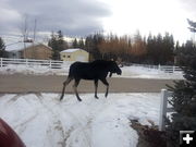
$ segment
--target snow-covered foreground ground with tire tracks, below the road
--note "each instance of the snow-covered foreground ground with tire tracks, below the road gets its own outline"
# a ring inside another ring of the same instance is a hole
[[[5,94],[0,118],[27,147],[136,147],[138,135],[130,120],[158,124],[160,94]]]

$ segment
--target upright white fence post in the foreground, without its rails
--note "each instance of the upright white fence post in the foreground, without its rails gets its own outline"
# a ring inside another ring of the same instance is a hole
[[[168,105],[168,90],[161,89],[159,131],[163,131],[166,128],[164,118],[167,114],[167,105]]]

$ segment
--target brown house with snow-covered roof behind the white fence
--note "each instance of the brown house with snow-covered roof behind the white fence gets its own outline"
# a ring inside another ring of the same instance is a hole
[[[9,58],[49,60],[52,49],[44,44],[21,44],[8,49]]]

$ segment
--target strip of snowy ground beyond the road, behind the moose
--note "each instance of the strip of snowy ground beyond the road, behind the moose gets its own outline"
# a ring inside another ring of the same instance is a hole
[[[0,74],[36,74],[36,75],[68,75],[70,62],[64,64],[62,69],[49,69],[48,66],[28,66],[26,65],[8,65],[0,68]],[[148,69],[144,66],[123,66],[121,68],[122,75],[114,77],[127,77],[127,78],[162,78],[162,79],[182,79],[182,72],[164,73],[163,71],[156,69]]]

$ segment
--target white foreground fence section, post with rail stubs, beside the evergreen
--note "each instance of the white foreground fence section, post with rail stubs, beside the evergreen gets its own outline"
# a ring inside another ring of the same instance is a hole
[[[168,112],[174,112],[171,107],[168,107],[168,99],[172,96],[172,93],[167,89],[161,89],[160,100],[160,115],[159,115],[159,131],[166,130],[166,118]]]

